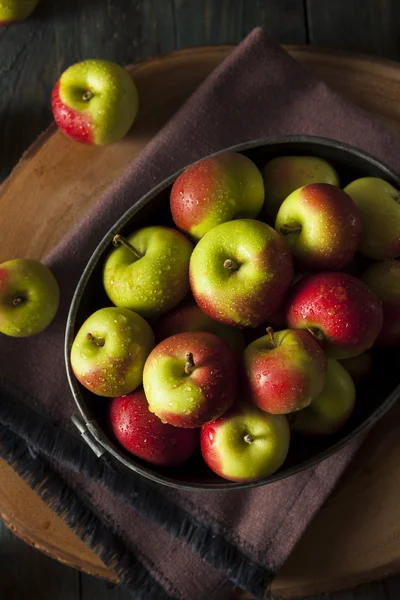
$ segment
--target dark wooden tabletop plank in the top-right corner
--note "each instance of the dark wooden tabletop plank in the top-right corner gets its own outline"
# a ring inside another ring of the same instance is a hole
[[[400,57],[398,0],[305,1],[311,44]]]

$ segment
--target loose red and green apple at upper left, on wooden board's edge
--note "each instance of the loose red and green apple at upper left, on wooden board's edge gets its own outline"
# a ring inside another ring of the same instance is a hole
[[[126,135],[138,110],[138,92],[120,65],[84,60],[64,71],[51,103],[55,122],[65,135],[98,146]]]

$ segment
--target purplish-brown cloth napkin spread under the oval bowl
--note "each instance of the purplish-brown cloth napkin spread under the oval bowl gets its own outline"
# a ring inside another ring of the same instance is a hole
[[[136,598],[263,598],[358,443],[245,492],[175,491],[111,472],[74,432],[63,338],[78,278],[109,227],[156,183],[202,156],[266,136],[351,143],[396,168],[400,138],[314,79],[260,30],[200,86],[47,263],[61,286],[40,336],[0,340],[0,454],[114,569]],[[27,199],[29,201],[29,199]]]

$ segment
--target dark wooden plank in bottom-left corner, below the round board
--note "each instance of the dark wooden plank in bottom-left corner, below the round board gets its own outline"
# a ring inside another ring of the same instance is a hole
[[[24,544],[0,520],[0,598],[80,600],[79,574]]]

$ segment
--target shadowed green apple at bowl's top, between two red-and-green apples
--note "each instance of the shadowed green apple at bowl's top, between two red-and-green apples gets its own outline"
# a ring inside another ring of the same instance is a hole
[[[310,183],[339,186],[335,169],[316,156],[278,156],[268,161],[262,170],[265,187],[263,212],[272,223],[282,204],[292,192]]]

